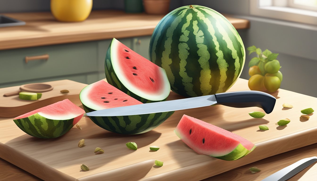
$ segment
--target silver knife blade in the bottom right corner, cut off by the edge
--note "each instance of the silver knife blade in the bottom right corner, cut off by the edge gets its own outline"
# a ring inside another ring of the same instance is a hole
[[[293,177],[296,173],[302,171],[307,166],[317,161],[317,157],[310,157],[301,159],[292,165],[289,165],[280,171],[273,173],[272,175],[264,178],[262,181],[284,181]]]

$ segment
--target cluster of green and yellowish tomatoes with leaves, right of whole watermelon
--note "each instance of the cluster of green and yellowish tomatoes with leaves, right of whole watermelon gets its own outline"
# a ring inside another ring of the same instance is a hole
[[[248,82],[250,90],[262,92],[275,92],[281,86],[283,75],[280,71],[280,62],[276,60],[277,55],[268,49],[262,52],[255,46],[248,47],[249,55],[256,52],[257,56],[249,62]]]

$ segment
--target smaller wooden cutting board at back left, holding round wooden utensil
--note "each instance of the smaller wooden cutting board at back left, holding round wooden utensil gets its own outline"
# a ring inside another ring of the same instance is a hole
[[[0,117],[17,117],[24,113],[28,113],[40,107],[53,104],[57,101],[61,101],[70,97],[77,98],[81,89],[86,86],[75,81],[61,80],[43,82],[53,86],[53,90],[43,92],[42,97],[39,100],[21,100],[18,95],[3,97],[3,94],[15,92],[19,90],[20,86],[6,87],[0,89]],[[67,89],[69,93],[62,94],[60,91]]]

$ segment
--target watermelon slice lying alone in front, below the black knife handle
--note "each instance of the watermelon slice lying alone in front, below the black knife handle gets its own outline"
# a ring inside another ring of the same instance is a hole
[[[256,147],[235,133],[187,115],[183,115],[174,132],[195,152],[222,160],[242,158]]]

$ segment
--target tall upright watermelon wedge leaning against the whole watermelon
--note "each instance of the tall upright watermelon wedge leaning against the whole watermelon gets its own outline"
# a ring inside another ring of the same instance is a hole
[[[170,83],[165,70],[113,38],[105,58],[107,81],[143,102],[165,100]]]

